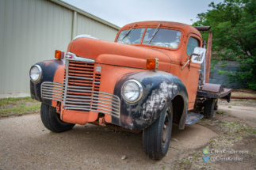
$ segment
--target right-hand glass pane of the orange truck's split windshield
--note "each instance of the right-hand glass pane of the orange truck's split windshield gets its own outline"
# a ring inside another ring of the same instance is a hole
[[[154,45],[159,47],[177,48],[181,40],[181,32],[170,29],[161,29],[155,34],[151,40],[156,28],[147,28],[147,32],[143,39],[143,44]],[[150,42],[151,40],[151,42]],[[150,42],[150,43],[149,43]]]

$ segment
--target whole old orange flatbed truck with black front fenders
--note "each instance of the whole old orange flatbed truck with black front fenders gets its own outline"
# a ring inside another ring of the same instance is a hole
[[[182,130],[203,115],[212,118],[216,101],[230,100],[231,89],[206,83],[201,71],[209,63],[198,30],[209,28],[143,21],[125,25],[115,42],[75,37],[66,55],[55,51],[56,59],[31,67],[31,96],[42,102],[44,126],[53,132],[86,123],[143,130],[147,157],[161,159],[173,123]]]

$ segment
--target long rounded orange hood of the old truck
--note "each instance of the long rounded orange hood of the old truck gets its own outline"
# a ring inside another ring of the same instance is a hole
[[[78,38],[71,41],[67,52],[74,53],[78,57],[94,59],[95,62],[99,63],[141,69],[146,69],[147,59],[159,59],[159,68],[161,66],[165,68],[160,70],[170,70],[169,55],[146,47],[137,47],[105,40]]]

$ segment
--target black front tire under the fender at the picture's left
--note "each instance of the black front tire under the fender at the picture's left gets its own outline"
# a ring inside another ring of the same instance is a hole
[[[55,133],[71,130],[75,126],[75,124],[72,123],[64,123],[55,108],[48,104],[41,104],[40,114],[44,127]]]

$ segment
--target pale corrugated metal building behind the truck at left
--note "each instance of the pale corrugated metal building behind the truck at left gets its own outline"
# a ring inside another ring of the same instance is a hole
[[[113,41],[120,28],[59,0],[0,0],[0,94],[29,93],[29,69],[81,34]]]

